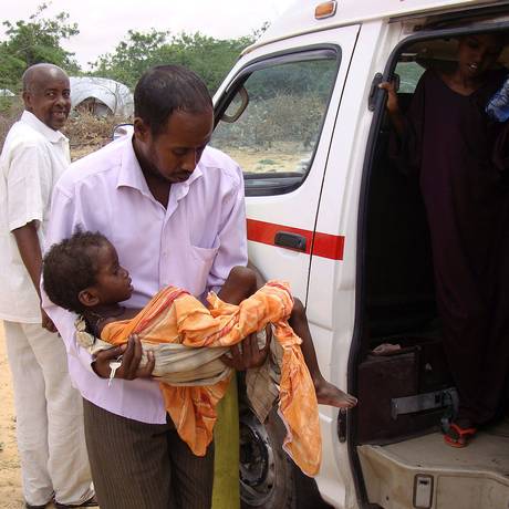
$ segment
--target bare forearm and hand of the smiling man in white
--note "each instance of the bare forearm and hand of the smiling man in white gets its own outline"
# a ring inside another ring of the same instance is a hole
[[[29,224],[15,228],[12,230],[18,249],[20,251],[21,260],[27,268],[27,271],[32,280],[33,287],[38,292],[39,300],[41,299],[41,271],[42,271],[42,249],[39,243],[37,221],[30,221]],[[41,320],[42,326],[48,329],[50,332],[56,332],[51,319],[48,316],[45,311],[41,308]]]

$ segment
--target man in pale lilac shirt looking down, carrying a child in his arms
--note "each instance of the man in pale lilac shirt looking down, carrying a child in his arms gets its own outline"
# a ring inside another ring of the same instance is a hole
[[[207,87],[184,67],[158,66],[142,76],[134,102],[133,138],[80,159],[56,184],[46,245],[79,228],[105,235],[133,280],[127,307],[143,308],[168,284],[196,297],[219,290],[232,267],[247,263],[246,215],[240,168],[207,147],[214,127]],[[138,368],[139,341],[92,357],[76,344],[75,316],[54,305],[46,310],[84,397],[101,508],[209,509],[214,447],[196,457],[180,440],[158,384]],[[236,367],[256,365],[266,354],[256,337],[247,341],[252,357],[233,351]],[[121,352],[108,386],[110,361]]]

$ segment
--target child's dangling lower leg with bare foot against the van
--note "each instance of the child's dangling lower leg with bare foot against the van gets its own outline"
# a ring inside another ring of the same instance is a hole
[[[295,331],[295,334],[302,340],[302,355],[304,356],[305,364],[313,380],[318,402],[322,405],[337,406],[339,408],[351,408],[355,406],[357,404],[355,397],[344,393],[322,376],[318,365],[316,353],[308,325],[304,305],[299,299],[294,299],[293,310],[288,322]]]

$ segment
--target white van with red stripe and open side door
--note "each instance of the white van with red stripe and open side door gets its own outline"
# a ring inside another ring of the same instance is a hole
[[[291,283],[324,376],[360,398],[347,415],[320,407],[315,486],[282,455],[277,419],[246,411],[243,507],[509,508],[508,429],[460,450],[439,432],[457,396],[427,225],[387,156],[377,87],[397,74],[404,104],[457,35],[490,30],[509,30],[508,1],[298,0],[218,90],[212,145],[245,172],[250,259]],[[382,343],[401,350],[375,355]]]

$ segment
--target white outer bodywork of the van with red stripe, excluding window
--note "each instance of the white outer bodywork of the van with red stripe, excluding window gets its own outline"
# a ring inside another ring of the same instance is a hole
[[[363,173],[371,160],[368,145],[375,131],[368,101],[373,92],[378,106],[383,98],[373,80],[377,73],[387,72],[387,61],[394,49],[415,34],[416,25],[427,27],[429,32],[423,30],[423,35],[438,33],[426,25],[429,17],[447,17],[467,9],[481,12],[484,7],[492,8],[502,2],[344,0],[337,2],[334,17],[318,21],[314,8],[319,3],[319,0],[300,0],[289,8],[260,41],[245,51],[218,90],[215,102],[220,102],[236,86],[242,70],[253,62],[263,62],[274,55],[284,59],[287,54],[321,46],[337,48],[341,52],[334,89],[305,179],[289,193],[248,196],[246,207],[250,260],[266,279],[289,281],[292,292],[307,304],[322,374],[345,388],[351,380],[351,354],[357,347],[353,340],[357,334],[357,308],[362,295],[359,238],[363,225],[360,215],[367,199],[362,196],[365,191]],[[405,21],[413,15],[420,18],[414,18],[413,23]],[[304,238],[305,249],[298,251],[276,246],[274,237],[280,231]],[[363,480],[359,482],[363,475],[360,464],[353,459],[351,444],[339,439],[337,409],[320,406],[319,411],[323,461],[315,480],[320,494],[335,508],[366,507]],[[349,426],[350,423],[349,417]],[[376,475],[382,476],[381,472]],[[405,489],[409,489],[408,482]],[[370,487],[371,501],[385,503],[385,495],[373,496],[373,487],[376,482]],[[453,485],[448,489],[454,492]],[[392,507],[391,502],[386,503],[383,507]]]

